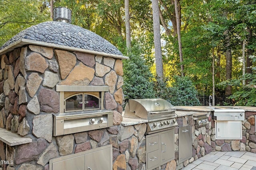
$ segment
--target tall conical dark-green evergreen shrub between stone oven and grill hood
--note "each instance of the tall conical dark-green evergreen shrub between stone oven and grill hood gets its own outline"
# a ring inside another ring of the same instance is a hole
[[[153,76],[144,59],[139,55],[138,47],[132,48],[129,59],[123,61],[125,103],[129,99],[154,98]]]

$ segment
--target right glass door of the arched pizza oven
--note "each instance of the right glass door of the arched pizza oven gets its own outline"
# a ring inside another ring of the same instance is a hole
[[[100,98],[91,94],[84,94],[84,110],[100,109]]]

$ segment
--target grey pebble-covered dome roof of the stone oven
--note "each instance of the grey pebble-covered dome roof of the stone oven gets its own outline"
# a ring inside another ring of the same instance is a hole
[[[47,21],[33,25],[8,40],[0,50],[19,39],[30,39],[80,49],[122,55],[114,45],[102,38],[100,35],[77,25],[64,22]]]

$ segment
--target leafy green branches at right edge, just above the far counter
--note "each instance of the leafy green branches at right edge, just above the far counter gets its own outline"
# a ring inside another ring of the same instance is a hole
[[[250,56],[250,58],[254,63],[256,62],[255,56]],[[253,66],[252,70],[252,74],[246,73],[238,78],[226,80],[218,84],[222,88],[225,88],[227,85],[233,86],[236,92],[229,96],[229,99],[234,100],[234,105],[236,106],[256,106],[256,66]],[[243,85],[243,80],[250,80],[250,82]]]

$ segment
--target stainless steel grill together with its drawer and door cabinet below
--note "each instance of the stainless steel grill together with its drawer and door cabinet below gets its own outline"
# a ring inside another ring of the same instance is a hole
[[[163,99],[129,100],[124,116],[147,119],[146,170],[157,168],[174,160],[175,109]]]

